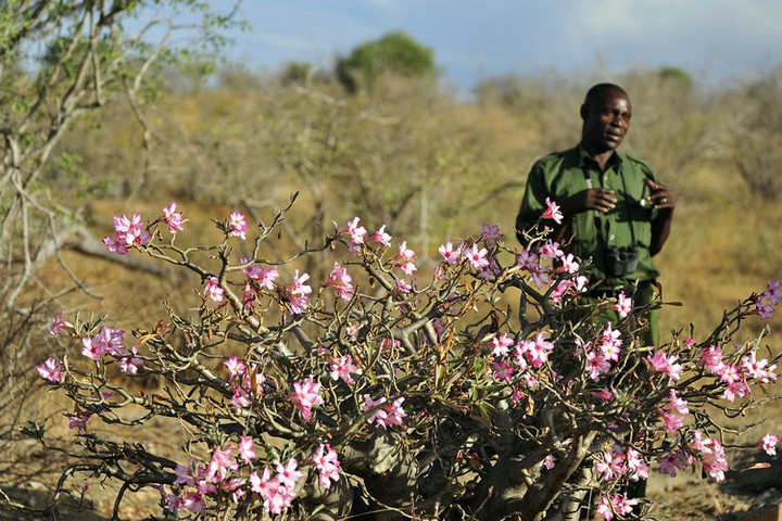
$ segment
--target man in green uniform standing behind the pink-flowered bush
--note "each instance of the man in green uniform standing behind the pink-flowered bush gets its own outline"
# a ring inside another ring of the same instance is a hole
[[[581,142],[532,166],[516,233],[524,244],[524,231],[541,219],[548,198],[564,216],[562,224],[543,221],[553,229],[551,238],[568,242],[565,250],[582,260],[592,259],[590,295],[623,291],[644,305],[654,300],[659,271],[652,257],[670,234],[676,198],[646,163],[617,150],[631,117],[621,87],[600,84],[589,90],[581,105]],[[648,345],[658,345],[658,316],[657,309],[649,316]]]

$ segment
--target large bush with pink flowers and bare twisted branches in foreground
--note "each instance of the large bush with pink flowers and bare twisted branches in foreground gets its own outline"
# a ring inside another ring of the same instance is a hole
[[[59,447],[76,459],[64,476],[118,480],[116,519],[141,487],[160,491],[156,519],[578,519],[590,500],[606,520],[645,517],[654,506],[628,497],[630,482],[689,469],[724,479],[714,411],[770,399],[751,393],[777,379],[777,357],[737,326],[771,316],[779,282],[705,338],[682,330],[652,346],[638,340],[647,309],[632,292],[583,308],[582,260],[545,230],[518,250],[484,225],[424,272],[413,244],[360,217],[263,258],[285,215],[231,213],[215,220],[222,242],[187,249],[175,203],[151,221],[117,216],[106,247],[197,274],[198,302],[175,295],[166,317],[131,332],[111,318],[54,321],[73,348],[38,371],[74,403],[80,448]],[[331,274],[312,280],[301,259],[324,251]],[[596,318],[608,308],[621,319]],[[94,429],[151,429],[155,417],[187,425],[180,459]],[[26,432],[45,441],[37,424]],[[772,453],[778,441],[744,446]]]

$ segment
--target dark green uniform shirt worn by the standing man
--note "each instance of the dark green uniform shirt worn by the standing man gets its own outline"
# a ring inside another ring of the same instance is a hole
[[[589,181],[584,173],[589,175]],[[532,166],[516,218],[516,229],[526,230],[534,226],[546,209],[546,198],[560,203],[590,186],[611,189],[617,200],[616,207],[607,214],[594,211],[575,214],[564,236],[564,242],[571,237],[572,240],[564,250],[584,262],[592,258],[594,266],[590,270],[590,283],[603,281],[598,284],[601,289],[628,287],[636,280],[652,281],[659,275],[648,250],[652,221],[657,217],[657,211],[652,209],[646,200],[649,195],[645,182],[647,177],[659,182],[646,163],[623,152],[616,151],[603,173],[581,145],[555,152]],[[633,242],[633,236],[639,247],[635,271],[609,278],[604,262],[605,246],[627,247]]]

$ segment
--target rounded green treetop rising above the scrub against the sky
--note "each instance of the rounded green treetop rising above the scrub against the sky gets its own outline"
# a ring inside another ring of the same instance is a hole
[[[337,64],[337,76],[351,92],[369,87],[383,74],[411,78],[434,76],[434,53],[404,33],[390,33],[356,47]]]

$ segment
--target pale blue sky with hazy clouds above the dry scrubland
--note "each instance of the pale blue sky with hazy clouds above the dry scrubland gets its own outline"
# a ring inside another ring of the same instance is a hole
[[[782,62],[779,0],[243,0],[240,15],[252,30],[234,35],[227,52],[251,71],[330,67],[337,54],[402,30],[433,49],[459,90],[504,74],[668,65],[736,80]]]

